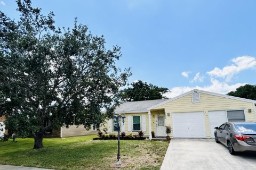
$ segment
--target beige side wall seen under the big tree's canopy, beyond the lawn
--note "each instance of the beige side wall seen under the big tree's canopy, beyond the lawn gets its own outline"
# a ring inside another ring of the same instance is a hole
[[[81,135],[87,135],[87,134],[97,134],[97,130],[86,130],[83,125],[76,128],[75,125],[69,126],[69,128],[66,128],[65,126],[62,126],[62,137],[74,137],[74,136],[81,136]]]

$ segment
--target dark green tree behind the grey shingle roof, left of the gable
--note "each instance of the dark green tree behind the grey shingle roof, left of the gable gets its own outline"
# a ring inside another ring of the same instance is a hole
[[[132,87],[121,90],[121,96],[125,101],[154,100],[166,98],[163,96],[169,89],[157,87],[138,80],[131,83]]]

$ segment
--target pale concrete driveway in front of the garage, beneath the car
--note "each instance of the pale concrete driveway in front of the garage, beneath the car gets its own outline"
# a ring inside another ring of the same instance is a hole
[[[161,170],[256,169],[256,154],[230,155],[214,139],[172,139]]]

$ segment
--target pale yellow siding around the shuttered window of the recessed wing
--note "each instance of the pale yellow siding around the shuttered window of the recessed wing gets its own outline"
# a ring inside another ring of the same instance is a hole
[[[144,136],[148,137],[149,136],[149,125],[148,125],[148,113],[126,113],[126,120],[125,120],[125,134],[137,134],[138,135],[138,131],[132,131],[132,132],[128,132],[128,121],[127,121],[127,116],[141,116],[141,115],[146,115],[146,132],[144,132]],[[152,118],[151,118],[152,120]],[[142,124],[141,124],[142,125]],[[132,126],[132,124],[131,124]],[[111,130],[112,132],[108,132],[109,133],[117,133],[117,132],[113,132],[113,122],[111,121]],[[100,127],[100,131],[103,132],[103,129],[107,128],[108,129],[108,120],[105,121],[105,123],[103,123],[103,125]],[[142,130],[142,126],[141,126],[141,130]],[[122,131],[122,128],[121,128]],[[122,131],[123,132],[123,131]],[[103,132],[104,133],[104,132]]]

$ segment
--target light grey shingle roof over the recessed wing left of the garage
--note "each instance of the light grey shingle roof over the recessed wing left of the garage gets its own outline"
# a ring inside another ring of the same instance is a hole
[[[147,112],[147,108],[162,103],[169,99],[143,100],[143,101],[127,101],[122,103],[115,109],[115,113],[129,112]]]

